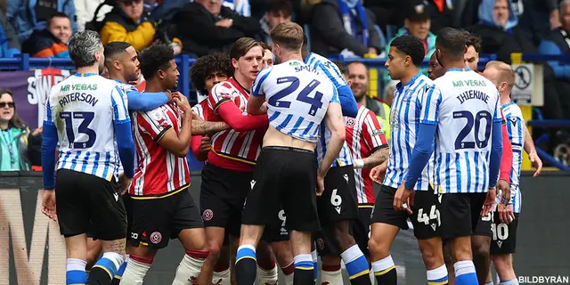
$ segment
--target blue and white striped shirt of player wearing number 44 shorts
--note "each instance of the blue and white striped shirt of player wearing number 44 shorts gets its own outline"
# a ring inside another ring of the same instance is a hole
[[[420,111],[422,109],[422,98],[434,82],[428,77],[418,74],[406,85],[398,83],[395,88],[394,102],[390,110],[390,158],[384,185],[398,188],[410,167],[411,152],[416,144],[416,135],[419,130]],[[421,172],[414,190],[427,191],[429,182],[433,176],[434,161],[433,156],[429,159],[428,165]]]

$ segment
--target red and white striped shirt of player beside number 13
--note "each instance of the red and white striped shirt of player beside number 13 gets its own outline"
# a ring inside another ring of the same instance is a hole
[[[173,103],[146,112],[134,112],[134,143],[139,164],[135,169],[129,194],[163,197],[186,189],[190,184],[190,172],[186,158],[178,158],[159,145],[159,140],[169,129],[180,133],[180,110]]]

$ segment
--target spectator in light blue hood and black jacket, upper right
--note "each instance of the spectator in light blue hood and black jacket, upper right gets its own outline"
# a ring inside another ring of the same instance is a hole
[[[497,53],[497,60],[510,63],[510,53],[536,53],[533,36],[518,27],[509,0],[484,0],[479,5],[480,22],[468,28],[481,37],[481,53]]]

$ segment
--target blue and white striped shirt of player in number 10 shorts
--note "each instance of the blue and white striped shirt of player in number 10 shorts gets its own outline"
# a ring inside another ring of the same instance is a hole
[[[513,146],[513,167],[510,169],[510,203],[513,204],[513,212],[520,213],[522,206],[520,167],[523,163],[525,146],[525,118],[523,118],[523,112],[515,102],[503,105],[502,113],[507,121],[509,141]],[[498,200],[498,202],[500,201]]]

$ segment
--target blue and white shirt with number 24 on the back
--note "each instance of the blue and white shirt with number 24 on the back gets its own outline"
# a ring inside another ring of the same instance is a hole
[[[269,125],[305,142],[318,142],[320,126],[338,94],[327,77],[303,61],[285,61],[261,70],[253,96],[265,95]]]

